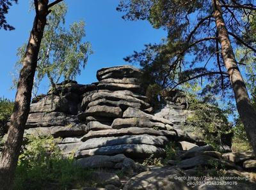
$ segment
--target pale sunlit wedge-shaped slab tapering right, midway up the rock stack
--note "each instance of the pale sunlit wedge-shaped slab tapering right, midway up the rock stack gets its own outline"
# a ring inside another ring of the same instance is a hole
[[[145,118],[145,119],[150,119],[150,121],[155,121],[155,122],[162,122],[164,124],[170,124],[171,126],[173,125],[172,122],[168,121],[167,119],[163,119],[161,117],[156,117],[154,115],[150,115],[148,113],[145,113],[137,108],[127,108],[125,112],[123,113],[123,117],[140,117],[140,118]]]

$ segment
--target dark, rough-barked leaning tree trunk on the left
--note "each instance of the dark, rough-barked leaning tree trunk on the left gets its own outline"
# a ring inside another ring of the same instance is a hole
[[[35,1],[36,16],[26,47],[23,68],[20,71],[8,137],[0,157],[0,189],[4,190],[12,189],[24,128],[28,119],[33,78],[35,76],[38,52],[46,24],[48,3],[48,0]]]

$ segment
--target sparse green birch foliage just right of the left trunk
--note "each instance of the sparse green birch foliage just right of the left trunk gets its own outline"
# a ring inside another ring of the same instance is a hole
[[[40,46],[38,66],[36,68],[36,80],[34,85],[35,94],[44,77],[49,78],[52,86],[61,78],[64,80],[75,80],[81,73],[81,68],[86,65],[88,55],[92,54],[91,44],[84,41],[84,22],[74,22],[69,28],[65,28],[65,15],[67,5],[59,3],[51,8],[47,17],[47,26],[44,30],[44,38]],[[26,45],[18,48],[19,61],[16,68],[22,65]],[[14,76],[15,79],[17,76]],[[17,84],[17,79],[14,80]]]

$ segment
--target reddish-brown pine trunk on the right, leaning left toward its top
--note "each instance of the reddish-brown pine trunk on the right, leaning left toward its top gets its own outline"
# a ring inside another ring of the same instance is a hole
[[[223,19],[220,1],[212,0],[212,6],[214,8],[213,17],[215,18],[219,34],[218,40],[221,44],[221,54],[236,98],[237,111],[244,124],[246,135],[250,140],[253,152],[256,152],[256,111],[252,106],[246,85],[237,65],[227,27]]]

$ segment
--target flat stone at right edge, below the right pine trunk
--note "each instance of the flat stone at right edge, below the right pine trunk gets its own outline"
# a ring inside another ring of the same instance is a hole
[[[251,152],[228,152],[222,155],[224,159],[228,159],[234,163],[239,163],[246,159],[254,159],[255,154]]]

